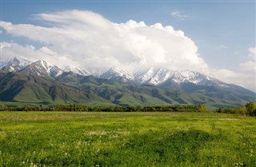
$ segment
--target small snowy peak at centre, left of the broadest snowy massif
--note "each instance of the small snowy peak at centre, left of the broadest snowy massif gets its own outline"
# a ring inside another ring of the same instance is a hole
[[[110,79],[118,82],[132,82],[134,77],[131,76],[128,72],[116,67],[111,68],[110,70],[103,73],[101,78]]]

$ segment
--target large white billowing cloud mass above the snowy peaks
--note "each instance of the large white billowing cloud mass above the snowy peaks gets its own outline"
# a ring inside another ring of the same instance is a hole
[[[187,17],[177,12],[172,15]],[[100,14],[82,10],[35,14],[34,18],[44,26],[1,21],[2,34],[34,42],[34,45],[2,42],[3,59],[42,59],[59,67],[84,66],[98,73],[111,67],[121,67],[130,74],[138,67],[149,66],[195,70],[225,82],[244,76],[230,70],[210,69],[198,54],[198,46],[182,30],[174,30],[172,26],[146,25],[133,20],[115,23]],[[255,54],[255,48],[253,52]],[[240,67],[246,70],[247,65]],[[222,74],[222,78],[218,74]],[[251,83],[233,83],[254,89]]]

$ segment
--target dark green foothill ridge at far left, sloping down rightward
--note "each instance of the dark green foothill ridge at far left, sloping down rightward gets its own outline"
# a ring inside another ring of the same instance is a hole
[[[52,78],[0,73],[0,100],[33,103],[108,103],[101,97],[80,92]]]

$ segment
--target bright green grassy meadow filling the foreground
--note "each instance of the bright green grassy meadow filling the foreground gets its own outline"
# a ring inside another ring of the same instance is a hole
[[[1,112],[0,166],[256,166],[256,119]]]

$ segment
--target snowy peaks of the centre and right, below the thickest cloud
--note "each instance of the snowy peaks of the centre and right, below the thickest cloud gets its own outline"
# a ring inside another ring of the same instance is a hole
[[[136,82],[138,84],[162,85],[166,82],[181,84],[184,82],[194,83],[195,85],[225,85],[224,82],[207,77],[198,72],[184,70],[174,71],[156,67],[134,71],[131,75],[126,70],[111,68],[100,76],[101,78],[111,79],[118,82]]]

